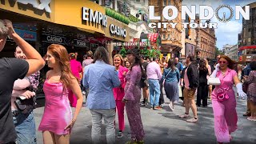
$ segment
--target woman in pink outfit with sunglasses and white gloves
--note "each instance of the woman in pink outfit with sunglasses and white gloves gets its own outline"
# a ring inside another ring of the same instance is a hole
[[[216,86],[211,94],[214,110],[214,131],[220,144],[230,142],[230,134],[238,127],[234,84],[240,97],[245,97],[246,94],[242,91],[242,83],[239,81],[236,71],[233,70],[234,62],[226,55],[222,55],[218,63],[219,68],[216,66],[216,70],[210,77],[217,77],[221,81],[221,84]]]

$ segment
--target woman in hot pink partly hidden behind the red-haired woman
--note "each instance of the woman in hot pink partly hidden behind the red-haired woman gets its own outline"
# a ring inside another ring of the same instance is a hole
[[[71,67],[72,74],[74,75],[75,78],[78,79],[78,82],[80,82],[81,81],[80,74],[82,73],[82,65],[80,62],[78,62],[76,60],[76,54],[74,54],[74,53],[70,54],[70,67]],[[77,98],[72,90],[69,90],[69,100],[70,100],[70,106],[72,106],[72,107],[77,106]]]

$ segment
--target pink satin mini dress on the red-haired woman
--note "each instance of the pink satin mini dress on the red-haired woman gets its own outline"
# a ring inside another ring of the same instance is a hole
[[[68,91],[63,90],[61,82],[50,83],[46,79],[43,92],[46,94],[46,104],[38,130],[58,135],[69,134],[70,130],[64,130],[72,119]]]

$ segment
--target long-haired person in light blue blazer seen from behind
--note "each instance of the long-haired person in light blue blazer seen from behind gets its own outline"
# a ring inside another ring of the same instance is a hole
[[[115,143],[115,100],[113,88],[120,86],[118,73],[110,66],[108,52],[99,46],[94,53],[94,61],[86,66],[83,86],[89,88],[86,106],[92,116],[91,138],[93,143],[101,142],[102,118],[106,125],[106,142]]]

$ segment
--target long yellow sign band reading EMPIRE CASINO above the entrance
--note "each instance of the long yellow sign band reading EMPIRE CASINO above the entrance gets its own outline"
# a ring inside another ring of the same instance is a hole
[[[1,0],[1,9],[47,22],[74,26],[90,33],[97,32],[124,42],[130,40],[128,25],[106,16],[105,8],[90,0]]]

